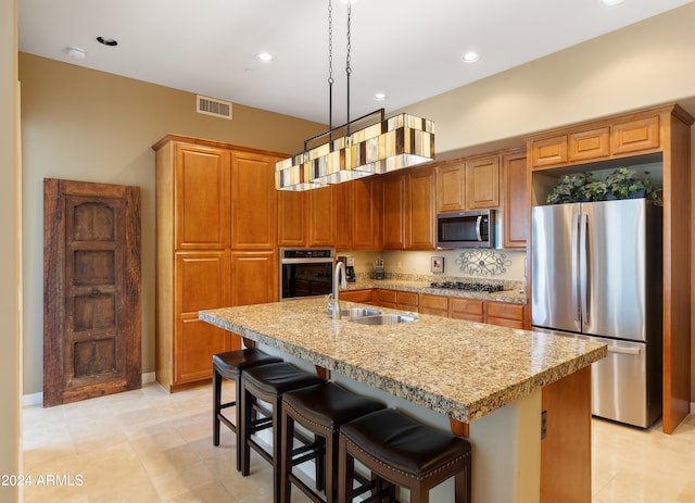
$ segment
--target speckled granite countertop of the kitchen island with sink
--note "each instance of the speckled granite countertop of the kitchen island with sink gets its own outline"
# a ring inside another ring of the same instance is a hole
[[[383,326],[333,320],[324,299],[223,307],[199,317],[464,423],[607,355],[597,342],[426,314]]]

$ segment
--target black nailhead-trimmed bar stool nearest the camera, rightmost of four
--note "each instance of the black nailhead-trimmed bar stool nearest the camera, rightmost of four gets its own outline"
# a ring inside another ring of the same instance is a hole
[[[471,447],[466,440],[422,425],[393,408],[374,412],[340,428],[338,501],[352,502],[355,460],[377,481],[410,490],[410,503],[428,503],[429,491],[454,477],[455,503],[471,501]],[[381,498],[367,501],[382,501]],[[389,501],[395,501],[391,494]]]

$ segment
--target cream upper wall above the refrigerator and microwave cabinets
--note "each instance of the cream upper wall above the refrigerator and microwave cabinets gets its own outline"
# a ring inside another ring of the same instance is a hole
[[[695,3],[406,110],[434,121],[439,159],[661,103],[686,100],[695,115],[693,23]]]

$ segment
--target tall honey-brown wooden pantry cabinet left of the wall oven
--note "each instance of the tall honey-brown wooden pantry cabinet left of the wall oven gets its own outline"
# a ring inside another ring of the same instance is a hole
[[[156,379],[167,390],[212,376],[239,336],[200,310],[273,302],[277,282],[274,163],[281,154],[167,135],[156,178]]]

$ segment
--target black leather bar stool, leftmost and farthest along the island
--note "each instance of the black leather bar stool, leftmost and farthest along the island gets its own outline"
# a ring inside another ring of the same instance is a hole
[[[255,348],[248,348],[226,353],[213,354],[213,444],[219,445],[219,423],[224,423],[237,435],[237,471],[241,470],[241,450],[237,425],[241,424],[241,373],[251,367],[281,362],[282,359],[270,356]],[[222,403],[222,378],[236,382],[235,400]],[[232,423],[222,411],[233,407],[236,420]]]

